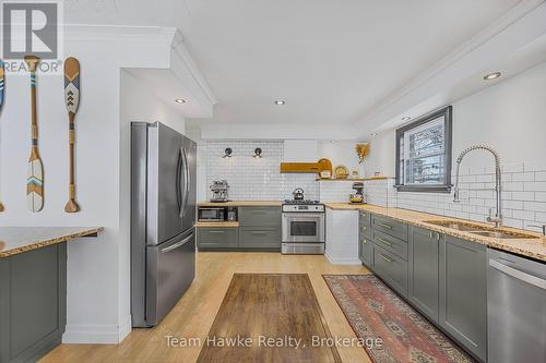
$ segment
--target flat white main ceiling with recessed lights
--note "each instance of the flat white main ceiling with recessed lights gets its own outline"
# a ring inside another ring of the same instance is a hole
[[[176,26],[213,121],[349,124],[519,0],[72,0],[68,23]],[[275,106],[275,99],[286,100]]]

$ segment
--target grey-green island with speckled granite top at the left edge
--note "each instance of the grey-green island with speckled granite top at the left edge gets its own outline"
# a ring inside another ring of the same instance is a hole
[[[67,243],[103,228],[0,228],[0,363],[33,362],[67,324]]]

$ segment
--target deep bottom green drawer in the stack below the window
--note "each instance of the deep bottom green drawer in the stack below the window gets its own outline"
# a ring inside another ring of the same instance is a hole
[[[376,244],[373,246],[373,271],[406,297],[407,262]]]

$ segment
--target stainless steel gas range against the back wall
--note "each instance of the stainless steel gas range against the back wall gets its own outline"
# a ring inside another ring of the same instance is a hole
[[[324,205],[318,201],[287,199],[282,210],[282,253],[324,254]]]

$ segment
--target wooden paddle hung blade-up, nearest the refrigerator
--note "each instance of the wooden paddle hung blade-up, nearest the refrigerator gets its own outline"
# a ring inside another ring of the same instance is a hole
[[[80,206],[75,202],[75,178],[74,178],[74,144],[75,144],[75,112],[80,104],[80,62],[75,58],[64,61],[64,102],[69,111],[69,144],[70,144],[70,186],[69,201],[64,211],[76,213]]]

